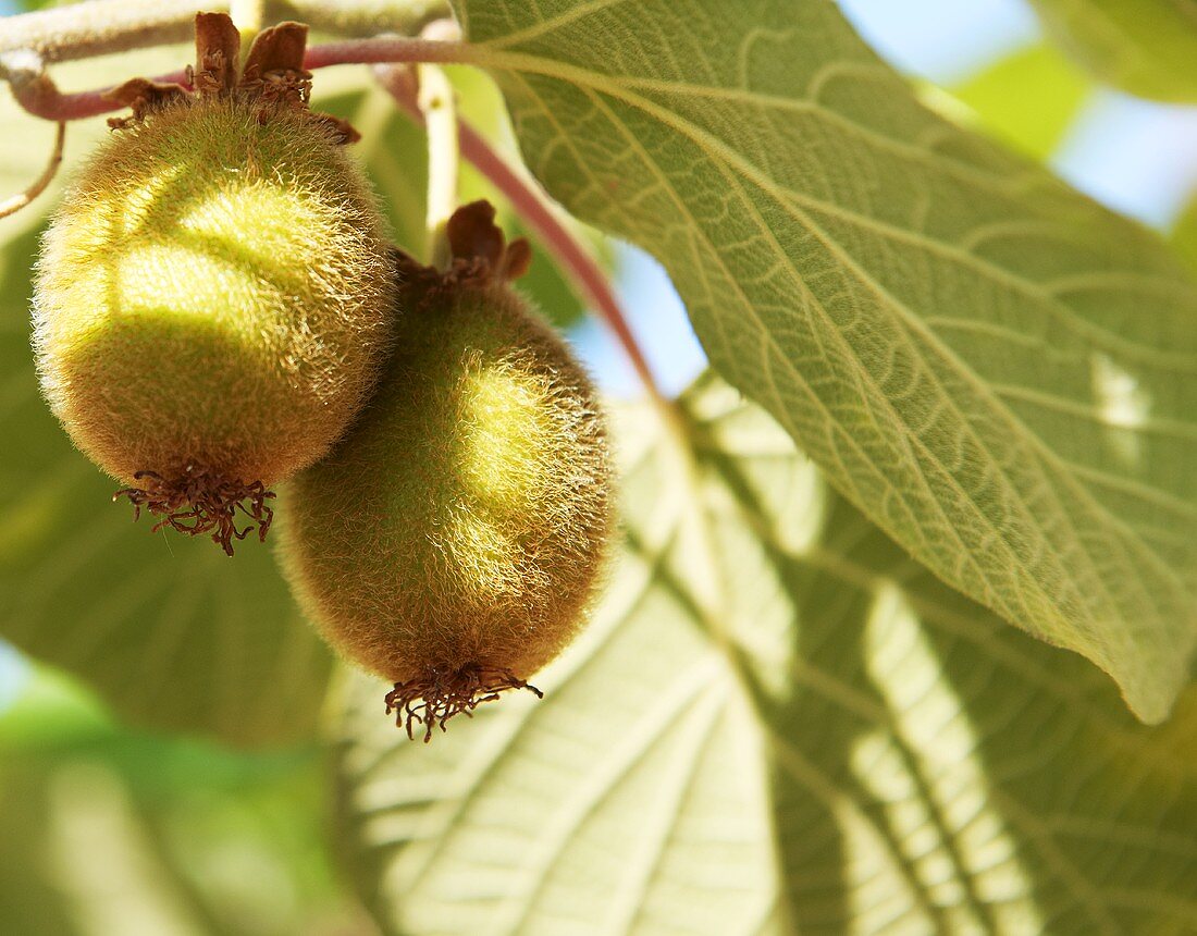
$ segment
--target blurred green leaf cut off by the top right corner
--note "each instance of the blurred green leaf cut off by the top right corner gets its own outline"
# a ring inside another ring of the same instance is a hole
[[[1104,81],[1197,102],[1197,0],[1032,0],[1049,34]]]

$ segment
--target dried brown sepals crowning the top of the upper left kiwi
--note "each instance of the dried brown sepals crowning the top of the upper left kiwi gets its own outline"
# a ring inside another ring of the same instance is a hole
[[[259,120],[269,118],[272,108],[306,111],[311,96],[311,72],[303,67],[308,26],[279,23],[262,30],[238,68],[241,32],[226,13],[195,14],[195,66],[188,66],[188,85],[160,84],[133,78],[114,87],[107,97],[130,108],[128,117],[110,117],[108,126],[123,129],[140,123],[163,107],[211,96],[235,97],[259,108]],[[356,142],[357,130],[328,114],[312,114],[327,124],[340,142]]]

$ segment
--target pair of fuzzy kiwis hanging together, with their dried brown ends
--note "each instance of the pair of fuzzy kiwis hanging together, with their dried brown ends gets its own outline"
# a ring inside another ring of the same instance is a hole
[[[389,245],[356,134],[308,107],[305,39],[268,29],[238,68],[231,20],[200,14],[193,90],[114,92],[132,116],[45,236],[35,347],[51,409],[154,529],[231,555],[290,479],[294,591],[427,740],[584,618],[603,423],[488,205],[450,220],[445,271]]]

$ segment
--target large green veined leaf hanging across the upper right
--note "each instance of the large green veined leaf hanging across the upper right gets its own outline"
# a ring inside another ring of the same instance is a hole
[[[948,583],[1147,721],[1197,639],[1197,285],[948,123],[828,0],[458,0],[529,168]]]

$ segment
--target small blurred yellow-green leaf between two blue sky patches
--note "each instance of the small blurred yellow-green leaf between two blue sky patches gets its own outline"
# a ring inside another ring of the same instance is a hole
[[[953,87],[952,95],[986,129],[1046,159],[1090,91],[1086,77],[1051,45],[1029,45]]]

